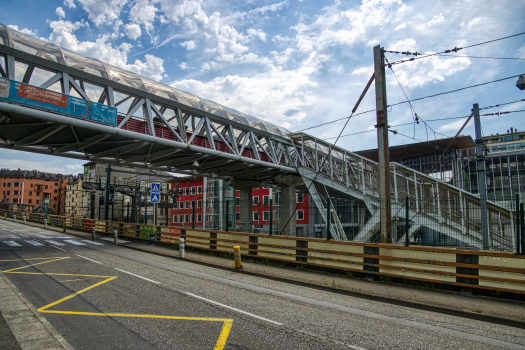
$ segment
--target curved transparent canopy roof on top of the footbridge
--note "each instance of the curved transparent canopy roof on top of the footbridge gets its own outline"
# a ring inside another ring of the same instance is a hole
[[[278,136],[287,136],[291,133],[284,128],[263,121],[249,114],[244,114],[233,108],[205,100],[169,85],[103,63],[97,59],[66,50],[53,43],[7,28],[3,24],[0,24],[0,44],[13,47],[17,50],[27,52],[46,60],[65,64],[68,67],[109,79],[135,89],[146,91],[162,98],[174,100],[187,106],[215,114],[219,117],[248,125],[255,129],[267,131]]]

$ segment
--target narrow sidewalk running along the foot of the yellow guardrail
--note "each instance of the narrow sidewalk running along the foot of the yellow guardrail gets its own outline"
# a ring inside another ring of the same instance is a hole
[[[43,225],[39,224],[31,225],[43,227]],[[61,228],[48,227],[48,229],[62,232]],[[83,238],[91,238],[91,234],[89,233],[73,231],[70,229],[67,230],[67,233]],[[97,235],[97,239],[98,238],[100,238],[100,236]],[[132,239],[124,239],[132,241]],[[159,244],[150,247],[149,242],[132,241],[122,244],[121,246],[173,259],[180,259],[177,250]],[[323,274],[320,272],[304,271],[251,261],[243,261],[243,269],[235,270],[233,266],[233,258],[226,259],[214,255],[190,251],[186,251],[185,255],[185,261],[226,269],[229,271],[236,271],[240,274],[270,278],[309,288],[316,288],[328,292],[340,293],[420,310],[525,328],[525,300],[519,302],[443,290],[418,289],[401,284],[370,281],[367,279],[351,278],[343,275]]]

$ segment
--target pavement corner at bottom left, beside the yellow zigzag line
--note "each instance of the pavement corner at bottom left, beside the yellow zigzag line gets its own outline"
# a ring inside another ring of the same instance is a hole
[[[0,348],[73,350],[2,272],[0,295]]]

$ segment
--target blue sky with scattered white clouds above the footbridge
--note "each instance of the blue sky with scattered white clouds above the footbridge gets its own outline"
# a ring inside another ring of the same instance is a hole
[[[373,47],[443,52],[525,32],[525,2],[310,0],[4,1],[0,23],[162,81],[291,131],[347,117],[373,72]],[[388,103],[525,73],[525,35],[432,56],[387,72]],[[476,56],[476,57],[473,57]],[[393,62],[404,58],[388,53]],[[473,103],[525,99],[517,78],[389,109],[399,145],[453,136]],[[358,113],[374,108],[371,89]],[[518,102],[484,113],[525,109]],[[414,114],[421,120],[414,124]],[[525,113],[482,118],[485,134],[525,130]],[[452,119],[456,118],[456,119]],[[442,120],[435,120],[442,119]],[[307,133],[335,141],[345,120]],[[355,116],[338,145],[377,146],[375,115]],[[403,126],[397,126],[406,124]],[[471,123],[464,134],[474,134]],[[361,133],[363,132],[363,133]],[[357,133],[357,134],[356,134]],[[82,162],[0,151],[0,167],[77,172]]]

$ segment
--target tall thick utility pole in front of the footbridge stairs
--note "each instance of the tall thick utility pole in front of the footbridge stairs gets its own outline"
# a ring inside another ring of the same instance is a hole
[[[392,215],[390,213],[390,152],[388,144],[388,115],[386,103],[385,51],[374,47],[376,86],[377,152],[379,163],[379,210],[381,243],[392,243]]]

